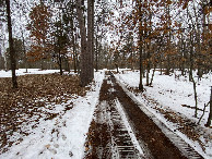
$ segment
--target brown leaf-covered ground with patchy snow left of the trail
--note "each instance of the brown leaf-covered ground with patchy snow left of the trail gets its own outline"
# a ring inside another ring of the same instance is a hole
[[[0,154],[13,144],[11,136],[22,142],[27,136],[23,123],[35,129],[40,118],[51,120],[58,115],[57,105],[64,103],[63,111],[72,108],[72,98],[84,96],[86,89],[79,86],[76,75],[45,74],[17,77],[19,88],[12,89],[11,78],[0,78]],[[60,112],[61,113],[61,112]],[[33,124],[32,124],[33,123]]]

